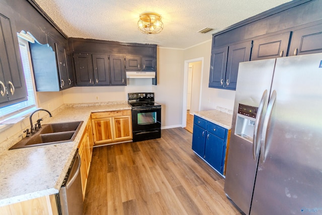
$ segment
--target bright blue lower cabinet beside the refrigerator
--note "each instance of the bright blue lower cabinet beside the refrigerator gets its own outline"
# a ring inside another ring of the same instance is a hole
[[[221,175],[224,174],[227,136],[227,129],[194,116],[192,150]]]

